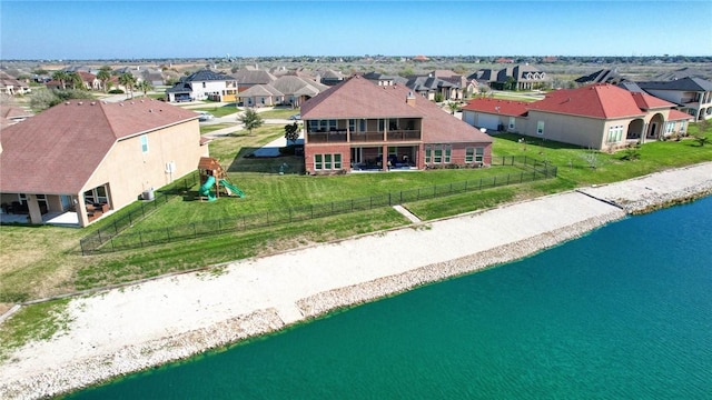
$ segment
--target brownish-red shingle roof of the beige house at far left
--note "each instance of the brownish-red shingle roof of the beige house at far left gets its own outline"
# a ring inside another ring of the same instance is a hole
[[[2,130],[0,191],[78,193],[118,139],[198,114],[162,101],[70,100]]]

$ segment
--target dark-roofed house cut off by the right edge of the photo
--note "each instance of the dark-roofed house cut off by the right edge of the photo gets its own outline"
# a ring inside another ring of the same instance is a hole
[[[645,92],[671,101],[694,117],[695,121],[712,118],[712,82],[701,78],[671,81],[635,82]]]

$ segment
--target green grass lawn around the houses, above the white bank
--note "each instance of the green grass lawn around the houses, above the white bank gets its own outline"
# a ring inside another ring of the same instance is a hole
[[[293,112],[294,110],[288,110]],[[690,127],[698,134],[696,127]],[[190,221],[214,220],[230,216],[363,198],[369,194],[432,187],[479,177],[507,173],[507,168],[476,170],[432,170],[393,173],[352,173],[335,177],[275,174],[287,163],[297,169],[297,157],[250,159],[244,156],[284,134],[281,126],[265,126],[251,134],[247,131],[210,143],[210,152],[228,170],[229,178],[247,198],[220,198],[216,202],[192,201],[189,192],[161,207],[134,229],[155,229]],[[712,128],[708,128],[712,139]],[[651,142],[640,149],[640,159],[623,160],[624,151],[592,152],[566,144],[538,141],[520,136],[494,138],[495,157],[531,156],[558,167],[558,178],[501,187],[406,203],[422,219],[454,216],[496,204],[570,190],[580,186],[605,183],[639,177],[671,167],[712,161],[712,144],[704,147],[692,139]],[[595,168],[592,168],[595,166]],[[518,170],[517,170],[518,171]],[[120,214],[121,211],[117,212]],[[81,257],[79,239],[108,221],[86,229],[3,226],[0,231],[0,309],[9,303],[44,298],[80,289],[97,288],[169,271],[200,268],[229,260],[263,256],[313,242],[322,242],[408,223],[395,211],[384,208],[342,214],[293,224],[275,226],[190,241],[175,242],[137,251]]]

